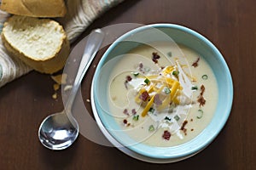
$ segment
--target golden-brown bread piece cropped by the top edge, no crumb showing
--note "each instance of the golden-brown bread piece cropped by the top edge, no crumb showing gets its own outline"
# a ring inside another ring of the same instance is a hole
[[[1,9],[32,17],[62,17],[67,13],[64,0],[2,0]]]

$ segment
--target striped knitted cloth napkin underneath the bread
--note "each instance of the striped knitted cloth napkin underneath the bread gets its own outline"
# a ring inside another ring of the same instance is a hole
[[[67,14],[64,18],[57,19],[67,32],[67,38],[73,42],[95,20],[113,5],[123,0],[67,0]],[[9,14],[0,11],[0,32],[3,22]],[[32,71],[20,59],[9,56],[0,37],[0,88],[7,82],[13,81],[27,72]]]

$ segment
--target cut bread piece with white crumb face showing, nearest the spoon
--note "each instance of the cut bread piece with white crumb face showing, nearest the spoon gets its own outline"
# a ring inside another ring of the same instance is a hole
[[[2,38],[11,56],[42,73],[60,71],[70,50],[62,26],[49,19],[13,15],[3,25]]]

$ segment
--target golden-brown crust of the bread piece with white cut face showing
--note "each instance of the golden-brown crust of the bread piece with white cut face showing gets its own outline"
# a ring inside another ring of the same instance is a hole
[[[48,19],[47,19],[48,20]],[[54,20],[49,20],[49,22],[55,22]],[[21,59],[26,65],[30,65],[34,70],[52,74],[56,71],[60,71],[66,64],[67,57],[70,52],[70,44],[67,40],[67,35],[63,30],[62,26],[55,22],[55,25],[61,27],[61,32],[63,32],[63,37],[61,39],[61,46],[55,49],[55,54],[53,56],[48,56],[45,59],[33,59],[32,56],[27,56],[26,54],[20,52],[19,48],[14,47],[11,42],[5,37],[5,26],[7,26],[8,20],[4,23],[2,40],[4,47],[8,50],[9,54],[14,58]],[[18,40],[17,40],[18,41]]]

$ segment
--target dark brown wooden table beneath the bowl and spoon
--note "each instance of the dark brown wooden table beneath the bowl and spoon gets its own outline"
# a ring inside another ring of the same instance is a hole
[[[254,0],[127,0],[84,32],[86,36],[94,28],[125,22],[175,23],[200,32],[218,47],[230,66],[234,102],[223,131],[198,155],[152,164],[82,135],[67,150],[45,149],[38,141],[38,126],[63,104],[60,96],[51,98],[52,79],[32,71],[0,88],[0,169],[256,169],[255,6]],[[97,54],[94,64],[101,56]],[[84,99],[90,98],[94,70],[90,68],[83,82]]]

